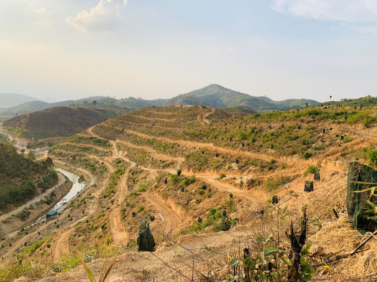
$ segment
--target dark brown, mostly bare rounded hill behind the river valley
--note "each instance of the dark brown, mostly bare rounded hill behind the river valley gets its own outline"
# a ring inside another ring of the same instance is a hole
[[[3,123],[14,135],[31,139],[56,136],[71,136],[125,113],[126,110],[111,110],[84,107],[53,107],[33,113],[21,114]]]

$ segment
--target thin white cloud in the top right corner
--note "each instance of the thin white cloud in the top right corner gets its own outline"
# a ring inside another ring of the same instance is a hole
[[[271,8],[309,19],[377,22],[375,0],[273,0]]]

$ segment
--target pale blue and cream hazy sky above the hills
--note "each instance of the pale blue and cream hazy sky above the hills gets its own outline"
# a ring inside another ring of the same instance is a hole
[[[375,0],[1,0],[0,93],[375,96]]]

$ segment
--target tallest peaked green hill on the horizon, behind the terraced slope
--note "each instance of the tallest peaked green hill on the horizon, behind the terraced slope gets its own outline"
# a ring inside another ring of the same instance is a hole
[[[167,102],[167,105],[205,105],[215,108],[241,107],[250,110],[280,110],[293,107],[303,108],[306,104],[313,105],[319,102],[309,99],[287,99],[284,101],[273,101],[268,97],[254,97],[248,94],[227,89],[218,84],[211,84],[207,87],[178,95]]]

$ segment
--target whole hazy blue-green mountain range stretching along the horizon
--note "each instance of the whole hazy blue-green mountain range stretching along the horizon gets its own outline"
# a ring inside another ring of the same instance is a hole
[[[318,101],[310,99],[288,99],[284,101],[273,101],[268,97],[250,96],[245,93],[225,88],[218,84],[211,84],[209,86],[191,91],[189,93],[180,94],[171,99],[144,100],[141,98],[134,97],[129,97],[126,99],[115,99],[111,97],[97,96],[78,100],[67,100],[62,102],[47,103],[20,94],[0,94],[0,101],[2,101],[2,108],[0,108],[0,116],[3,117],[12,117],[15,116],[16,113],[23,114],[34,111],[40,111],[51,107],[72,105],[89,106],[96,108],[136,110],[150,106],[174,106],[196,104],[215,108],[238,107],[257,111],[303,108],[306,107],[306,105],[313,105],[319,103]]]

